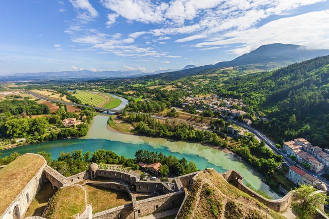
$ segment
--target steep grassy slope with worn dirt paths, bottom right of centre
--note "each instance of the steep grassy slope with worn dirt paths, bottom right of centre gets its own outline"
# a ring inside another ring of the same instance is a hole
[[[266,206],[228,184],[215,170],[200,173],[177,219],[263,219]],[[284,219],[270,210],[268,219]]]

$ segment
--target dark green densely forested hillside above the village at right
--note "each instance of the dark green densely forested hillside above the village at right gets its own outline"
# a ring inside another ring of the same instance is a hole
[[[329,56],[229,79],[218,94],[243,98],[254,111],[264,111],[269,121],[257,119],[254,126],[278,142],[305,137],[328,147]]]

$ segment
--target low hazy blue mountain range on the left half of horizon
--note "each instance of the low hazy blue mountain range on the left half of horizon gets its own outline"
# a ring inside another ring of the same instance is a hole
[[[140,70],[134,71],[62,71],[62,72],[37,72],[37,73],[17,73],[1,77],[1,81],[17,80],[60,80],[60,79],[100,79],[100,78],[127,78],[147,75]]]

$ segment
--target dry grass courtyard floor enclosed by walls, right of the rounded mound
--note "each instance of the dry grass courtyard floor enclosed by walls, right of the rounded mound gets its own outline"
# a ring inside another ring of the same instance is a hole
[[[93,214],[131,203],[128,193],[85,185]],[[101,197],[101,198],[100,198]]]

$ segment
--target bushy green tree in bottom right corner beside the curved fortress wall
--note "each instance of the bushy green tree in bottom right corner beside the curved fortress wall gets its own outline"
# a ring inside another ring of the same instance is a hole
[[[317,193],[311,185],[302,185],[295,191],[293,210],[299,219],[314,219],[316,208],[325,204],[326,196],[325,193]]]

